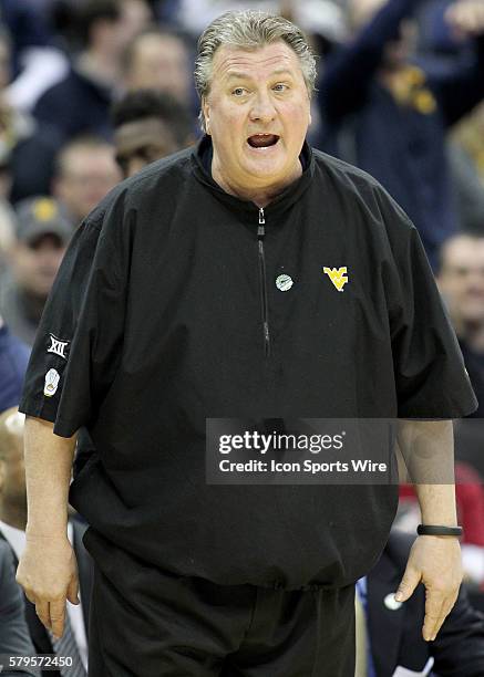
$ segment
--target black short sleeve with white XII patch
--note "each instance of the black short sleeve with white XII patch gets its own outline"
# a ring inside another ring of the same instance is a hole
[[[89,426],[123,345],[128,253],[123,197],[80,226],[44,308],[19,409],[71,437]]]

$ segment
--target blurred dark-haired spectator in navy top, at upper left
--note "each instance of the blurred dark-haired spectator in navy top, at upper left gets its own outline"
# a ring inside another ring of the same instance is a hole
[[[83,50],[68,75],[39,100],[34,115],[64,139],[110,137],[110,106],[120,86],[120,55],[150,19],[145,0],[87,0],[80,10]]]

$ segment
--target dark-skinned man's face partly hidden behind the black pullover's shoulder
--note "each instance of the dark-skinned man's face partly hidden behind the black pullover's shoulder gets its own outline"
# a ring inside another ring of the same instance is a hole
[[[124,177],[181,149],[168,126],[155,117],[121,125],[115,132],[114,145]]]

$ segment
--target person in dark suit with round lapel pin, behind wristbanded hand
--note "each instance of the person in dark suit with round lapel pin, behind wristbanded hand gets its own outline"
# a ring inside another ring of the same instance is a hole
[[[424,616],[425,590],[420,585],[406,604],[394,602],[393,592],[402,577],[413,537],[393,530],[374,569],[365,580],[362,603],[368,623],[368,646],[358,650],[371,655],[375,677],[393,675],[398,666],[422,675],[481,677],[484,674],[484,616],[470,604],[462,587],[435,642],[423,642],[420,625]],[[433,667],[430,666],[433,664]],[[371,675],[371,671],[368,673]],[[361,677],[357,673],[357,677]]]

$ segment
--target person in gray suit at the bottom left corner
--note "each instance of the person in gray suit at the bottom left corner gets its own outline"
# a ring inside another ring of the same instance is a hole
[[[0,656],[1,674],[13,677],[39,675],[32,666],[22,665],[22,657],[34,656],[35,652],[29,637],[29,629],[23,616],[23,600],[16,583],[13,559],[7,543],[0,541]],[[10,667],[7,656],[17,658],[16,666]],[[13,667],[19,669],[13,669]],[[24,669],[22,669],[24,668]]]

